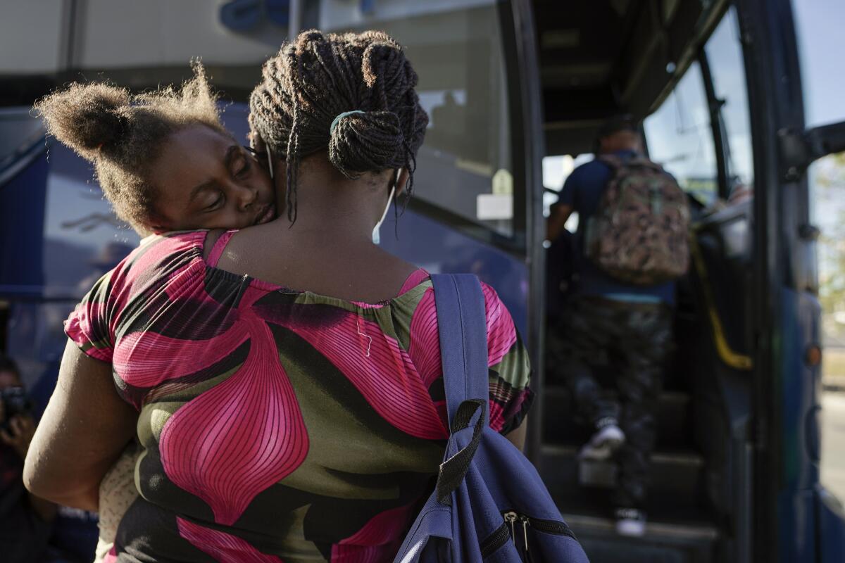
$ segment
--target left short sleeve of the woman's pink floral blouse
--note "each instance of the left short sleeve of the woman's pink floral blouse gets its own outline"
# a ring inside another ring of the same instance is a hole
[[[113,288],[115,271],[106,273],[94,287],[79,301],[74,311],[64,322],[64,332],[79,349],[96,360],[112,361],[114,331],[109,322],[109,297]]]

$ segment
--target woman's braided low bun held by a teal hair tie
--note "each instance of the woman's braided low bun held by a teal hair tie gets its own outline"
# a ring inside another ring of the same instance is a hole
[[[355,179],[383,171],[405,150],[405,138],[393,111],[363,111],[342,116],[331,132],[329,158],[337,170]]]

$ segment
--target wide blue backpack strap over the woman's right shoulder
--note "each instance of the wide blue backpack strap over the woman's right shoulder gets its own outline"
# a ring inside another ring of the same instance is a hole
[[[466,400],[489,400],[487,317],[484,294],[470,273],[433,274],[440,359],[450,426]],[[488,409],[483,409],[487,425]]]

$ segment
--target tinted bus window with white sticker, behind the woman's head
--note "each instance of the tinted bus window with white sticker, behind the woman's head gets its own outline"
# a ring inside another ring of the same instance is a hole
[[[514,232],[514,190],[503,38],[493,0],[394,0],[363,14],[359,3],[320,4],[324,30],[385,30],[419,75],[428,133],[417,155],[417,198]]]

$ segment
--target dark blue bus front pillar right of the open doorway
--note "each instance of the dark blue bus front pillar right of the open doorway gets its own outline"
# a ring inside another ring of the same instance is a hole
[[[805,129],[793,24],[793,9],[803,4],[737,2],[754,109],[755,556],[840,561],[842,507],[819,484],[819,230],[811,220],[806,171],[821,156],[845,149],[845,123]]]

